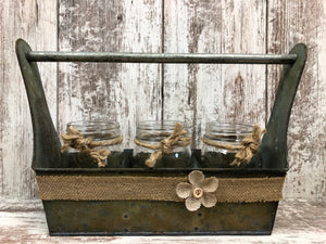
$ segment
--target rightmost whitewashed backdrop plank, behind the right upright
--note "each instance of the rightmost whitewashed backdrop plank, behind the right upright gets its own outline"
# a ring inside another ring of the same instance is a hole
[[[287,53],[308,46],[308,61],[292,107],[288,131],[290,170],[286,198],[326,200],[326,4],[325,1],[268,1],[268,52]],[[268,69],[268,106],[279,67]]]

